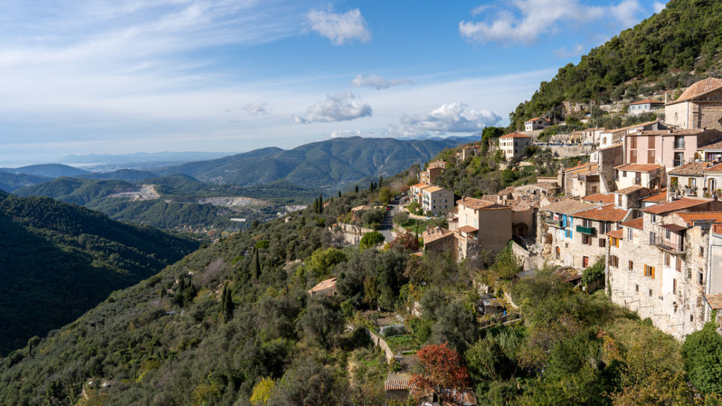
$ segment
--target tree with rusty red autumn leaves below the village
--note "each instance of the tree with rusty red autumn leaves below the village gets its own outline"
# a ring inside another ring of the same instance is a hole
[[[419,394],[430,390],[440,393],[440,389],[463,389],[469,386],[469,371],[456,350],[446,344],[427,345],[416,354],[424,372],[412,376],[411,383]],[[415,392],[416,392],[415,391]]]

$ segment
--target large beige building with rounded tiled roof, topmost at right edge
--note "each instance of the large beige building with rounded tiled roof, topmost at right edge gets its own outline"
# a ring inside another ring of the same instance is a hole
[[[678,129],[722,131],[722,79],[708,77],[664,106],[664,121]]]

